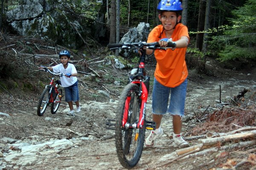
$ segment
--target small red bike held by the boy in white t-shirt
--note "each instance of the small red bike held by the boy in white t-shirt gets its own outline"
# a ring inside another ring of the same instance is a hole
[[[40,70],[49,72],[52,75],[58,75],[60,77],[64,76],[61,73],[57,73],[57,74],[53,73],[47,68],[41,68]],[[45,89],[42,92],[41,97],[39,99],[39,103],[38,103],[38,109],[37,109],[38,116],[43,116],[47,106],[50,103],[52,103],[51,113],[55,114],[57,112],[58,107],[61,103],[61,97],[62,97],[62,89],[61,87],[58,87],[58,85],[61,85],[61,81],[57,79],[54,82],[54,77],[52,77],[50,84],[45,86]]]

